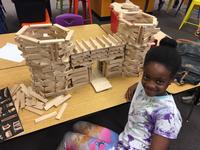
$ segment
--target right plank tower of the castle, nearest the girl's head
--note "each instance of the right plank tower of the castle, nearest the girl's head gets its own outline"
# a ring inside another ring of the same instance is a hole
[[[115,5],[112,7],[115,8]],[[126,41],[123,75],[139,76],[146,52],[154,41],[153,35],[160,30],[156,28],[157,19],[137,9],[130,11],[115,8],[115,11],[119,13],[117,35]]]

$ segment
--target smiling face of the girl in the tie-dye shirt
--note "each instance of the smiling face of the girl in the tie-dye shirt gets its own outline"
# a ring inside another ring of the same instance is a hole
[[[164,95],[171,82],[171,72],[164,65],[150,62],[144,66],[142,85],[147,96]]]

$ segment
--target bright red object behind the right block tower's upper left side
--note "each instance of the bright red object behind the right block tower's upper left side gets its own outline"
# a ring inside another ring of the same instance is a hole
[[[118,31],[119,26],[119,14],[111,9],[111,31],[116,33]]]

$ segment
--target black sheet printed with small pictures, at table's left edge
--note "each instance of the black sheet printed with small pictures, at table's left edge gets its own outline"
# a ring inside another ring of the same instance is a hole
[[[0,90],[0,142],[21,132],[23,127],[8,88]]]

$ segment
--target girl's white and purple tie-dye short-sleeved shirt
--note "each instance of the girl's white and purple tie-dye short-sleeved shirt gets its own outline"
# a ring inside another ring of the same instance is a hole
[[[181,126],[181,115],[172,95],[149,97],[140,82],[132,98],[128,122],[115,149],[148,150],[152,134],[176,139]]]

